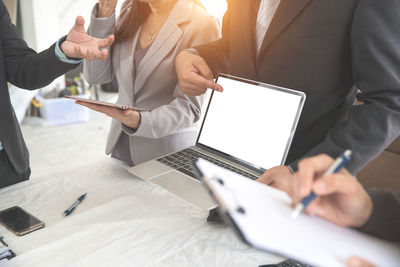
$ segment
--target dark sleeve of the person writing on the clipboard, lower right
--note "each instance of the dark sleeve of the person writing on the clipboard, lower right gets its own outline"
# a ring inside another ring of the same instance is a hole
[[[400,242],[400,194],[376,189],[367,190],[373,210],[368,222],[359,230],[373,236]]]

